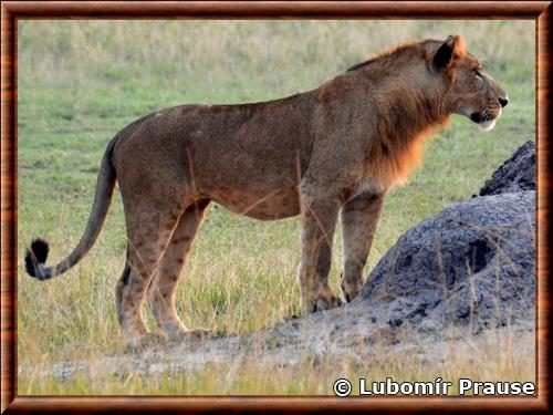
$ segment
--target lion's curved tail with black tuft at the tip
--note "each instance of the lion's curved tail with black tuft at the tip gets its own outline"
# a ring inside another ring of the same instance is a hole
[[[94,204],[91,216],[88,217],[88,224],[86,225],[86,229],[77,246],[63,261],[54,267],[46,267],[44,263],[46,262],[49,252],[48,242],[44,239],[34,239],[31,246],[27,249],[25,255],[25,270],[29,276],[43,281],[67,271],[81,261],[81,259],[83,259],[96,241],[107,216],[107,211],[109,210],[113,190],[115,187],[116,174],[115,168],[112,165],[112,152],[114,144],[115,139],[107,145],[104,153],[104,157],[100,166],[96,193],[94,195]]]

